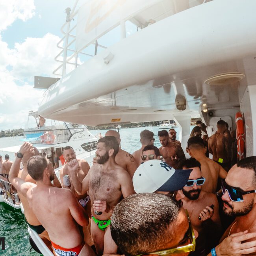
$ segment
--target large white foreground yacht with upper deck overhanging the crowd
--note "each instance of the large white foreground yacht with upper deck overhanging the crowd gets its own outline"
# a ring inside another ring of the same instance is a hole
[[[246,156],[256,155],[256,1],[77,6],[61,28],[60,79],[35,78],[35,87],[46,89],[41,116],[90,126],[173,119],[185,151],[191,117],[201,117],[210,136],[220,119],[236,130],[241,112]]]

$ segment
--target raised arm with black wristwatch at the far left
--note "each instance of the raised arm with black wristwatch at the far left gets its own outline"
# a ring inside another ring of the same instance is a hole
[[[19,152],[24,156],[25,154],[29,154],[33,150],[32,144],[25,142],[21,147]],[[20,192],[22,195],[26,196],[28,189],[34,184],[30,182],[25,182],[21,178],[18,178],[19,170],[20,170],[20,162],[21,158],[16,157],[13,164],[11,165],[10,173],[9,173],[9,181],[13,186]]]

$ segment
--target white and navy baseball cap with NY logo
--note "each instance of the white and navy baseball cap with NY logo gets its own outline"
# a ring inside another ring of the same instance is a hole
[[[132,182],[136,193],[172,192],[182,189],[192,169],[175,170],[164,161],[148,160],[139,165]]]

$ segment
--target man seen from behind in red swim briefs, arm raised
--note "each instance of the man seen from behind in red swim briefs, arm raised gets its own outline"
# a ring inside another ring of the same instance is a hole
[[[33,151],[33,145],[25,142],[11,167],[9,178],[13,186],[26,197],[38,221],[48,232],[55,255],[65,252],[95,255],[89,245],[83,245],[78,225],[88,225],[88,216],[69,189],[53,187],[54,169],[52,163],[43,156],[32,156],[27,163],[28,174],[36,184],[18,178],[21,158]],[[77,255],[73,254],[73,255]]]

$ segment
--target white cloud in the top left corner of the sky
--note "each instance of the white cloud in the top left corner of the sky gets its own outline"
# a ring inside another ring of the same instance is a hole
[[[23,21],[33,17],[35,5],[33,0],[0,1],[0,30],[5,30],[16,19]]]

